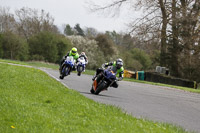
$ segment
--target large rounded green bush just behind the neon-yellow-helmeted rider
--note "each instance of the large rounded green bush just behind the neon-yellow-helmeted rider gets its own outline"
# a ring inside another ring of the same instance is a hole
[[[67,51],[71,49],[71,42],[63,35],[51,32],[40,32],[29,40],[31,60],[59,63]]]

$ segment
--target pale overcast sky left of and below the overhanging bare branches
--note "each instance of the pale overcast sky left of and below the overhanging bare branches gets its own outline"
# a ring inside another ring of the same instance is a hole
[[[100,32],[126,31],[128,18],[125,14],[118,17],[105,17],[87,10],[88,0],[0,0],[0,6],[10,7],[11,11],[22,7],[43,9],[55,19],[55,24],[61,27],[70,24],[72,27],[79,23],[81,28],[93,27]],[[96,0],[93,0],[96,1]],[[103,0],[107,1],[107,0]]]

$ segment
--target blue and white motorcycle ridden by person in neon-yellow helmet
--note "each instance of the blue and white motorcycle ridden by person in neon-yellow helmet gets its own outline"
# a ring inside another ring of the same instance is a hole
[[[72,56],[67,56],[66,60],[62,65],[60,79],[64,79],[65,76],[68,76],[69,72],[72,70],[74,65],[75,65],[74,58]]]

